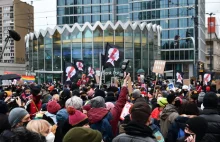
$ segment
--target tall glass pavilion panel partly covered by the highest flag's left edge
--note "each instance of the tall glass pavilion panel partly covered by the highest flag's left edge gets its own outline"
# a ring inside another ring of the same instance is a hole
[[[94,68],[100,68],[99,53],[103,53],[103,31],[98,26],[93,32],[94,37]]]

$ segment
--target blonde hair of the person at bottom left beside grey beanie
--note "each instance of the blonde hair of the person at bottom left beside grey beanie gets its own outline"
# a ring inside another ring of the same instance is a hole
[[[51,125],[46,120],[31,120],[26,128],[46,137],[50,133]]]

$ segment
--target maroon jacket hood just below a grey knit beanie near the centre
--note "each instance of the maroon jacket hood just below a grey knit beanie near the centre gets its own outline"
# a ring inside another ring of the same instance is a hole
[[[94,124],[101,121],[107,114],[109,110],[106,108],[92,108],[88,111],[89,123]]]

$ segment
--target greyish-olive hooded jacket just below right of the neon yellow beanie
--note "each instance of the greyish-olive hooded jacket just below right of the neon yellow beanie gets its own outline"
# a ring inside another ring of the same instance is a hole
[[[164,138],[167,138],[168,128],[170,124],[179,116],[176,107],[172,104],[166,105],[160,115],[160,129]]]

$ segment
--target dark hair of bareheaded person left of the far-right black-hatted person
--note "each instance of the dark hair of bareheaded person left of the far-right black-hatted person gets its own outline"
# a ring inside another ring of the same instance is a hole
[[[193,102],[184,102],[179,108],[179,114],[199,115],[199,109]]]

